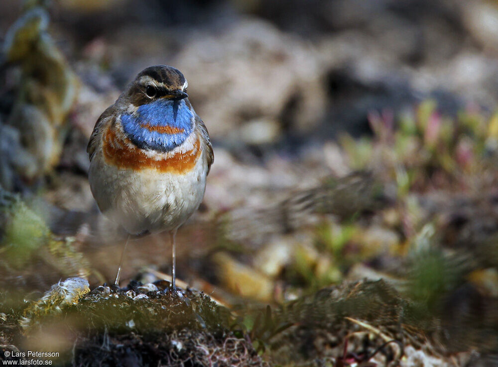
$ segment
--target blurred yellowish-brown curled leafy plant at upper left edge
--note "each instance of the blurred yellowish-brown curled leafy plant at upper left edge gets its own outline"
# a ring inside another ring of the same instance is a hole
[[[48,33],[42,6],[27,5],[3,43],[5,62],[19,65],[21,83],[7,126],[18,130],[17,146],[4,152],[0,183],[13,189],[14,174],[34,181],[58,164],[68,128],[66,117],[77,95],[78,80]],[[21,157],[19,157],[21,156]]]

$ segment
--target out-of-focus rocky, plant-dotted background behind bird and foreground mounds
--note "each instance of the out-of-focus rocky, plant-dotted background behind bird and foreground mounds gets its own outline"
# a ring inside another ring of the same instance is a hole
[[[442,318],[449,350],[496,352],[497,1],[0,7],[1,287],[113,279],[124,241],[86,144],[125,85],[166,64],[215,154],[178,233],[182,280],[234,305],[383,278]],[[169,274],[169,254],[167,235],[133,241],[123,283]]]

